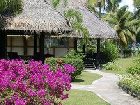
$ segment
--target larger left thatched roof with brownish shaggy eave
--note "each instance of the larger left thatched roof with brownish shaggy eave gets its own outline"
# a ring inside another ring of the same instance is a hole
[[[44,0],[23,0],[23,11],[6,19],[6,30],[70,31],[67,20]]]

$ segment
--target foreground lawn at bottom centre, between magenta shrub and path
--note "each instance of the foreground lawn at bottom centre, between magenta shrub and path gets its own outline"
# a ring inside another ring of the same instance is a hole
[[[110,105],[97,95],[89,91],[71,90],[64,105]]]

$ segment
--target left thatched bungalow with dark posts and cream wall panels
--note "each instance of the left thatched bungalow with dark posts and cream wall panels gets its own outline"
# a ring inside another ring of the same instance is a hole
[[[56,49],[45,47],[46,38],[68,35],[72,29],[67,20],[43,0],[23,0],[21,14],[16,17],[1,16],[1,20],[4,24],[0,26],[4,27],[0,30],[0,58],[7,58],[7,52],[24,56],[36,56],[37,52],[41,55],[45,52],[54,55],[61,50],[66,52],[60,46]]]

